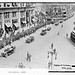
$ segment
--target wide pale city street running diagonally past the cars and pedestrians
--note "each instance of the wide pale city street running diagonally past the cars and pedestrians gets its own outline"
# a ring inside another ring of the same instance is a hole
[[[57,60],[53,60],[53,64],[69,64],[75,63],[75,49],[74,46],[66,39],[66,33],[69,34],[73,30],[73,22],[75,15],[63,23],[59,23],[58,26],[50,24],[50,31],[47,34],[41,36],[40,33],[45,27],[38,29],[30,36],[34,36],[34,41],[30,44],[25,43],[25,40],[29,37],[21,38],[20,41],[12,43],[16,46],[14,54],[7,58],[0,57],[0,68],[16,68],[19,63],[23,63],[25,68],[45,68],[48,69],[47,51],[50,50],[51,43],[54,44],[53,48],[57,50]],[[63,25],[63,28],[61,28]],[[59,35],[57,35],[59,32]],[[31,54],[31,61],[26,61],[26,54]],[[57,69],[57,67],[53,67]],[[59,69],[59,68],[58,68]]]

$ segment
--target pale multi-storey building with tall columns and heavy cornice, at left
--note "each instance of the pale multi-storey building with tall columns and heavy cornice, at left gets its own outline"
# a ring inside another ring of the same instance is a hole
[[[0,28],[3,28],[5,35],[6,27],[18,27],[16,31],[23,27],[29,27],[31,23],[31,15],[34,6],[31,3],[24,2],[4,2],[0,3]],[[3,37],[2,36],[2,37]]]

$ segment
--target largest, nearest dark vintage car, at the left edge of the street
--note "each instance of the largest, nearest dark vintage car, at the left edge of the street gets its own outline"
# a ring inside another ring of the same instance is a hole
[[[1,53],[1,57],[7,58],[7,56],[10,56],[11,54],[15,52],[15,48],[16,48],[15,46],[11,46],[5,49],[4,52]]]

